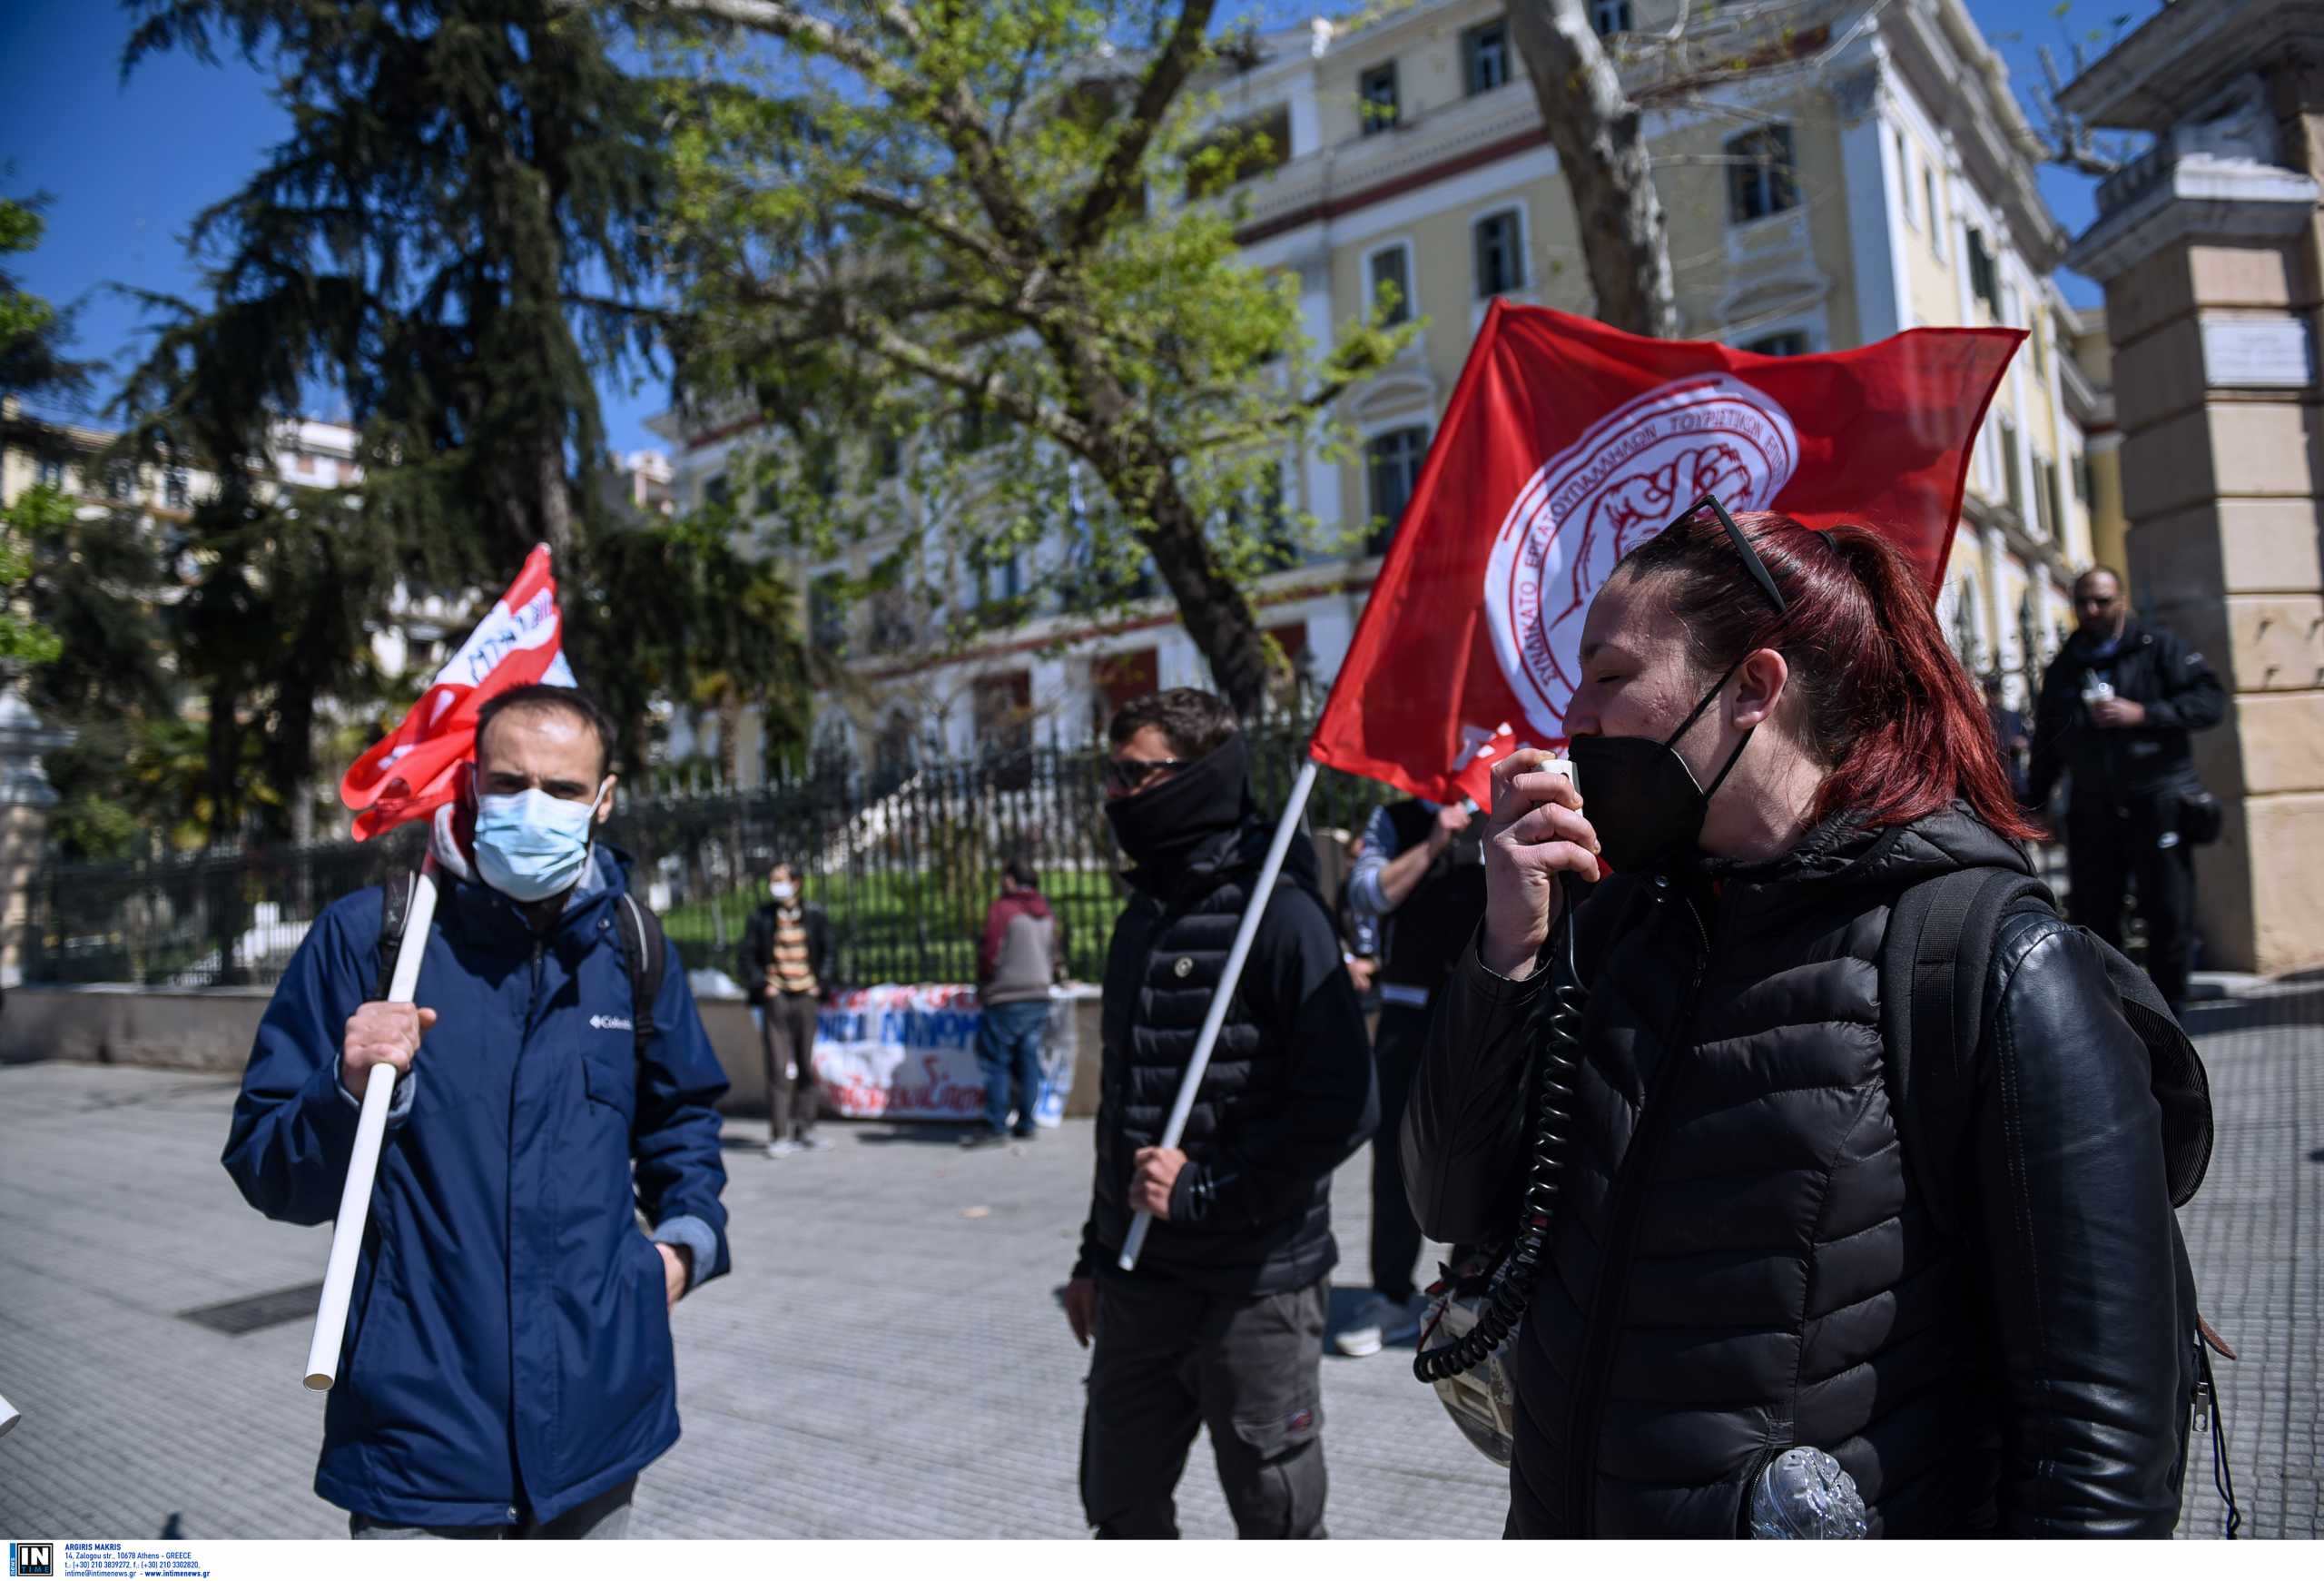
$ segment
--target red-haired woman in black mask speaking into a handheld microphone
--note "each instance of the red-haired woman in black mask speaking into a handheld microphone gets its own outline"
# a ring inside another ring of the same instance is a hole
[[[1954,1135],[1887,1086],[1889,909],[2029,872],[1906,560],[1699,507],[1615,567],[1580,663],[1578,788],[1545,753],[1494,770],[1485,921],[1401,1135],[1420,1225],[1501,1242],[1532,1083],[1571,1088],[1508,1351],[1508,1532],[1736,1537],[1762,1472],[1813,1446],[1871,1535],[2168,1537],[2196,1316],[2147,1044],[2099,946],[2010,909]],[[1552,1021],[1578,1025],[1571,1074]],[[1927,1200],[1915,1144],[1957,1153],[1961,1200]]]

